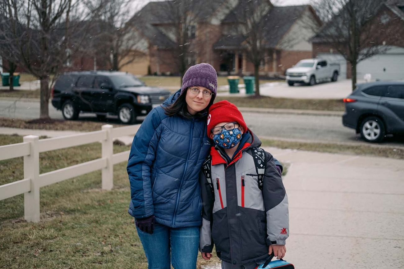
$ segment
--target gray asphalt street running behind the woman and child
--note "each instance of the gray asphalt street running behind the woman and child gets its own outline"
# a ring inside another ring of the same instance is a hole
[[[49,115],[53,119],[63,119],[61,111],[57,111],[51,104]],[[251,112],[244,112],[243,115],[248,127],[260,137],[368,144],[363,142],[353,129],[343,127],[340,116]],[[0,117],[37,119],[39,102],[0,100]],[[80,118],[91,120],[95,115],[80,114]],[[109,123],[114,122],[118,122],[116,117],[109,119]],[[387,138],[381,145],[404,146],[404,139]]]

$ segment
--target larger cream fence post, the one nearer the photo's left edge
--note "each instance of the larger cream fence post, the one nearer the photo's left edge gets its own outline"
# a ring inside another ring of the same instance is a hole
[[[30,154],[24,156],[24,178],[31,179],[31,191],[24,193],[24,218],[39,222],[39,148],[38,136],[24,136],[24,142],[30,144]]]

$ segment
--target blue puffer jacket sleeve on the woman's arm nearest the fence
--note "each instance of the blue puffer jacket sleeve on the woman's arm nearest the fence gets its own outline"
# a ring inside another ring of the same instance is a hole
[[[161,119],[157,109],[147,115],[133,138],[126,167],[131,196],[128,213],[139,219],[154,215],[150,173],[160,138]]]

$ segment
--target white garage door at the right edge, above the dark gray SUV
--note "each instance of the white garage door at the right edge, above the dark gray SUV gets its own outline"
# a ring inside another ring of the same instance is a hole
[[[358,79],[362,79],[366,73],[370,73],[372,79],[404,79],[404,48],[392,47],[385,54],[363,60],[356,70]]]

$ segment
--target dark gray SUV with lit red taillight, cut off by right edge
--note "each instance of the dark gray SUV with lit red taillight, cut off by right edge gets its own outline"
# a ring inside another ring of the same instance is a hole
[[[404,134],[404,82],[359,84],[344,103],[343,125],[356,129],[367,142]]]

